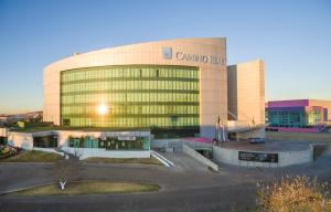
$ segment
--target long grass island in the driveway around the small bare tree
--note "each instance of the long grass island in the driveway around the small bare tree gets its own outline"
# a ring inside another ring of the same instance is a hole
[[[71,182],[64,191],[57,183],[36,187],[14,192],[15,195],[75,195],[75,194],[106,194],[106,193],[134,193],[159,191],[159,184],[135,182]]]

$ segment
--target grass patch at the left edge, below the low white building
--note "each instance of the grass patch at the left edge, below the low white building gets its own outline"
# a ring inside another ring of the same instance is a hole
[[[63,157],[57,153],[22,150],[13,157],[0,159],[0,162],[55,162],[62,159]]]

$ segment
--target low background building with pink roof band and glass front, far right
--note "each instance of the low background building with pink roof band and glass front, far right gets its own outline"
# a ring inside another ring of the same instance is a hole
[[[331,124],[331,100],[268,102],[266,120],[269,131],[320,132]]]

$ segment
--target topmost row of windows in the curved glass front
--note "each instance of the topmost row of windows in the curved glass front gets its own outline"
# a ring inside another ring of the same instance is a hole
[[[116,77],[167,77],[167,78],[199,78],[199,70],[195,67],[177,66],[108,66],[88,67],[63,72],[62,82],[116,78]]]

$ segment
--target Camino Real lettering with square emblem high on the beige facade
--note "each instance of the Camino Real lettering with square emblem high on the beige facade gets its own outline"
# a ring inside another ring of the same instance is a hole
[[[172,55],[178,61],[191,61],[199,63],[210,63],[214,65],[225,65],[225,59],[215,55],[191,54],[183,51],[172,52],[172,47],[162,47],[162,55],[166,60],[171,60]]]

